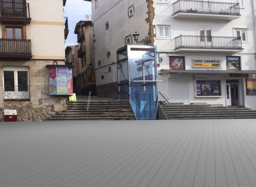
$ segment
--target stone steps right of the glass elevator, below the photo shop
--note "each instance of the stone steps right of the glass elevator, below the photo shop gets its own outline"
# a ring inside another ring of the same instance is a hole
[[[256,110],[241,106],[211,104],[168,104],[160,103],[166,117],[172,119],[243,119],[256,118]]]

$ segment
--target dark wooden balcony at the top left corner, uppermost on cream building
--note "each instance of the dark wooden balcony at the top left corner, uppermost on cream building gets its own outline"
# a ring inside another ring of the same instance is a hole
[[[0,0],[0,22],[29,24],[30,21],[29,3],[11,3]]]

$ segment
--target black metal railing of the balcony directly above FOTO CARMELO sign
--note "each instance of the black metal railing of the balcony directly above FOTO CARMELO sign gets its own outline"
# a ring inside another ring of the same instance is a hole
[[[175,49],[179,48],[242,49],[241,37],[185,36],[175,37]]]

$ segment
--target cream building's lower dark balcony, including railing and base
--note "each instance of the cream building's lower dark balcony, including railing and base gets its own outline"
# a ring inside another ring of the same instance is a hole
[[[0,38],[0,59],[31,59],[31,40]]]

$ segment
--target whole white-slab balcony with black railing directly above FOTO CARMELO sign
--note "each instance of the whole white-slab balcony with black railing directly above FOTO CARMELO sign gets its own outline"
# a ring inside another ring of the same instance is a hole
[[[175,52],[241,52],[240,37],[185,36],[175,37]]]

